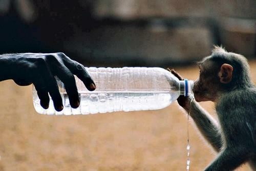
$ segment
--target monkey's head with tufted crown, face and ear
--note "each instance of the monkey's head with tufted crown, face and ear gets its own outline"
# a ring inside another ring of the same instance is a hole
[[[247,59],[221,47],[215,47],[198,66],[200,75],[193,89],[196,101],[216,102],[223,93],[253,85]]]

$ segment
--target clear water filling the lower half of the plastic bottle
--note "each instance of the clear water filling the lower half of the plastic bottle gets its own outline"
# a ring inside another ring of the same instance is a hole
[[[79,92],[80,106],[73,109],[70,106],[67,93],[61,93],[63,110],[56,112],[50,100],[49,109],[40,106],[37,96],[34,97],[34,106],[38,113],[56,115],[96,114],[115,111],[140,111],[162,109],[176,100],[179,92]]]

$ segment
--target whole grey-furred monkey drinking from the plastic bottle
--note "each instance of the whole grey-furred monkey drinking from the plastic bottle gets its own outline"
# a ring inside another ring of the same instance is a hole
[[[215,46],[210,56],[197,63],[199,78],[191,97],[180,96],[179,105],[194,120],[198,130],[218,152],[205,170],[233,170],[248,162],[256,170],[256,87],[247,59]],[[175,70],[171,71],[180,80]],[[212,101],[216,121],[198,102]]]

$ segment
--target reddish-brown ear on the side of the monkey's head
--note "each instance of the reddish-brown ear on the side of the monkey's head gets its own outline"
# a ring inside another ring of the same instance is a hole
[[[221,83],[229,83],[232,80],[233,67],[227,63],[221,66],[221,70],[218,73]]]

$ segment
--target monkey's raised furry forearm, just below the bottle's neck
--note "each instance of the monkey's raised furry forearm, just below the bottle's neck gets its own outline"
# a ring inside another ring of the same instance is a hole
[[[189,109],[184,109],[189,112]],[[191,103],[190,116],[193,118],[205,139],[214,147],[215,151],[220,152],[223,141],[220,127],[216,120],[196,101]]]

